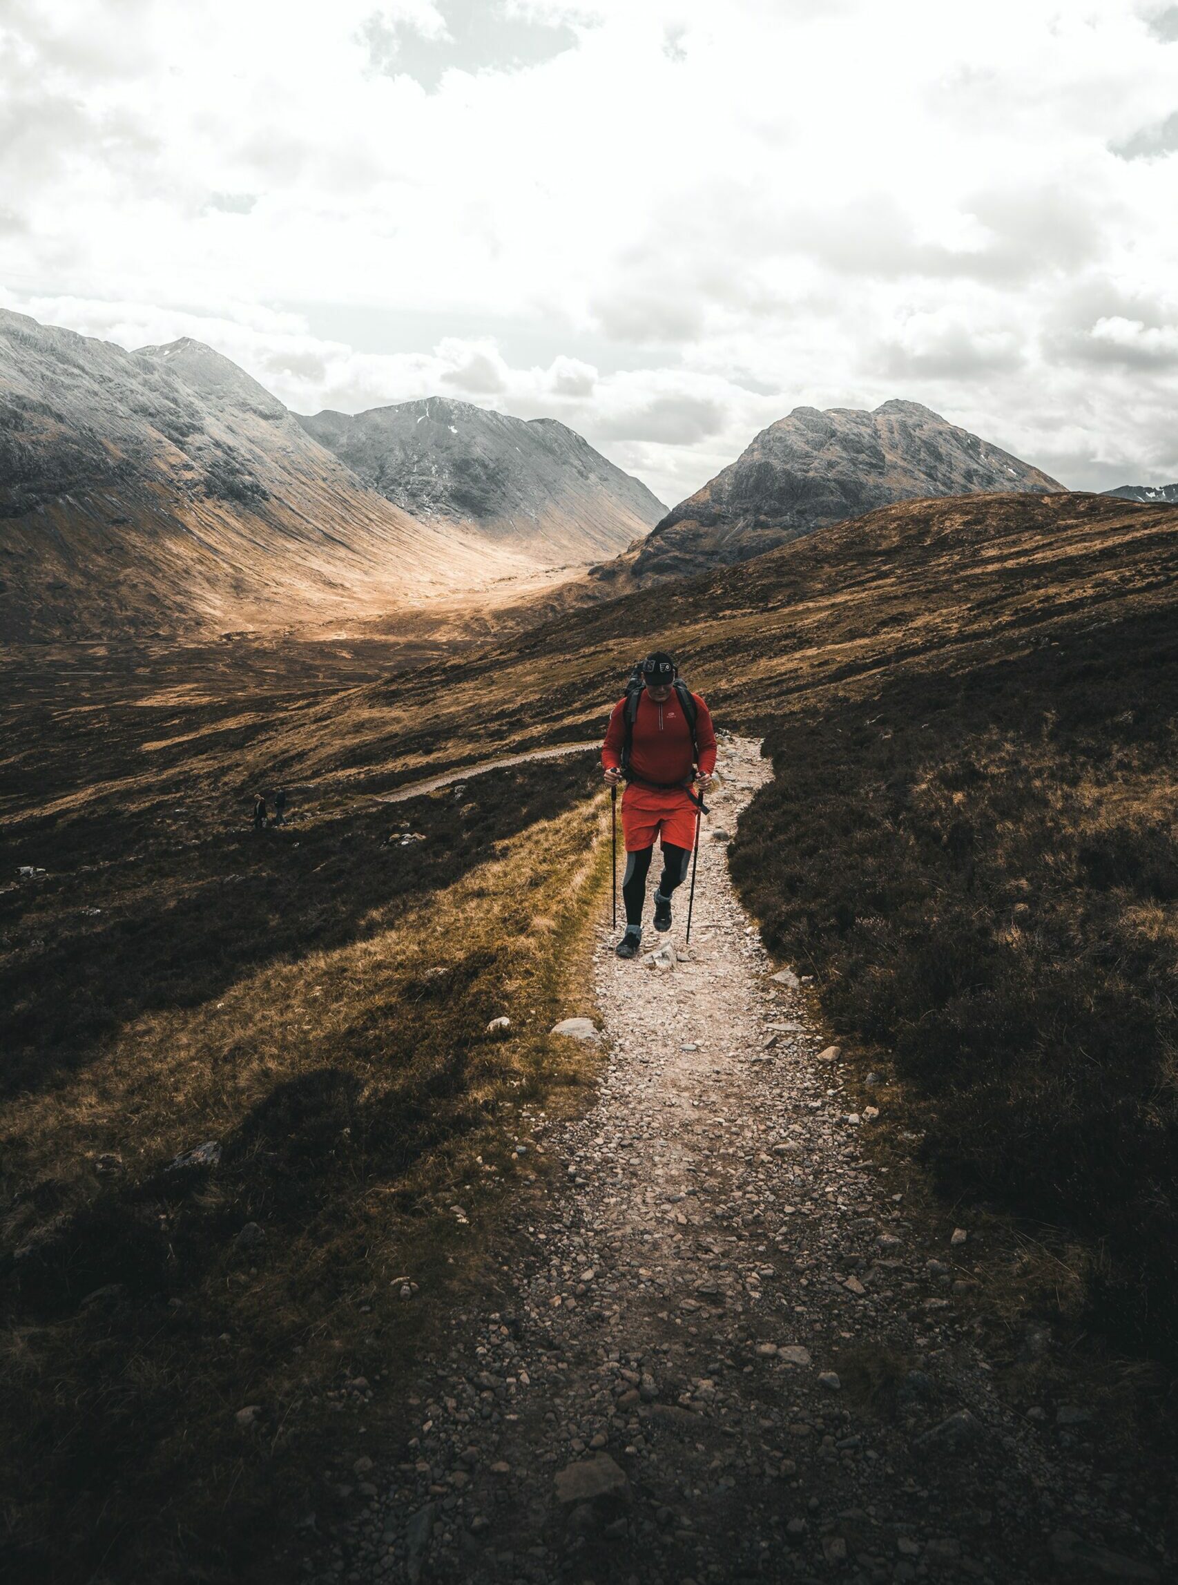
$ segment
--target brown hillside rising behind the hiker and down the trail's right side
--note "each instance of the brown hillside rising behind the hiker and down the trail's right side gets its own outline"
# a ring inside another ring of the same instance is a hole
[[[1107,496],[886,507],[266,740],[369,788],[604,724],[675,651],[775,781],[732,850],[766,940],[896,1064],[951,1189],[1088,1239],[1111,1330],[1178,1344],[1178,528]],[[544,655],[544,672],[534,656]]]

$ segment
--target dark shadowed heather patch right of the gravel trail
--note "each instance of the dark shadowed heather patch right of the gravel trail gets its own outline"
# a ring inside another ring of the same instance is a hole
[[[732,873],[954,1194],[1083,1233],[1094,1314],[1178,1333],[1172,612],[796,699]]]

